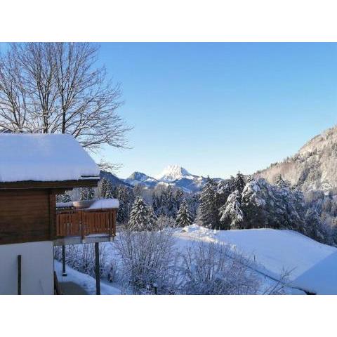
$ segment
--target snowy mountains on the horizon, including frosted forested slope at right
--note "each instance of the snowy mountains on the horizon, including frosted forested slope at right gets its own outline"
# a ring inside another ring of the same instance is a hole
[[[281,175],[291,185],[301,187],[303,192],[332,190],[333,194],[337,194],[337,125],[309,140],[292,157],[271,164],[267,169],[257,171],[253,175],[265,178],[270,183],[275,183]],[[171,185],[185,192],[198,192],[206,183],[205,177],[195,176],[178,165],[167,166],[155,177],[134,172],[128,178],[121,179],[105,171],[101,171],[101,176],[105,176],[113,185],[132,187],[140,184],[147,188]]]

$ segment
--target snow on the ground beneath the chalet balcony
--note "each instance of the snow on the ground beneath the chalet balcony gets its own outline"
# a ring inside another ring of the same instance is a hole
[[[86,274],[77,272],[70,267],[66,267],[67,276],[62,276],[62,263],[54,260],[54,269],[58,275],[58,282],[62,288],[63,282],[73,282],[78,284],[81,288],[88,293],[88,295],[95,295],[96,293],[96,280]],[[120,295],[121,291],[113,286],[100,282],[100,293],[102,295]]]

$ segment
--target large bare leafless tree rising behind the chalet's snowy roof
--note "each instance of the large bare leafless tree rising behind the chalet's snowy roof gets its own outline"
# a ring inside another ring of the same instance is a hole
[[[70,133],[81,145],[124,147],[119,84],[88,43],[11,44],[0,58],[0,131]]]

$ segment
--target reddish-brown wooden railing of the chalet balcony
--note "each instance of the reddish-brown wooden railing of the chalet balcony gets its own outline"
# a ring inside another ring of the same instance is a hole
[[[77,210],[69,209],[56,212],[57,237],[81,237],[106,234],[116,235],[116,209]]]

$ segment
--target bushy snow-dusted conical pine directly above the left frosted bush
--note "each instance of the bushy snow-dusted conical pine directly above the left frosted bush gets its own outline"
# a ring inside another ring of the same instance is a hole
[[[128,220],[130,230],[156,230],[156,216],[142,197],[136,197],[133,202],[130,218]]]

